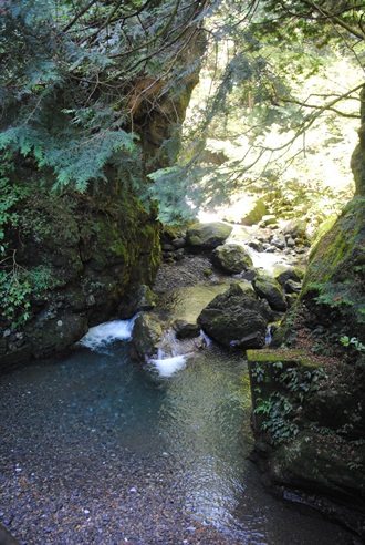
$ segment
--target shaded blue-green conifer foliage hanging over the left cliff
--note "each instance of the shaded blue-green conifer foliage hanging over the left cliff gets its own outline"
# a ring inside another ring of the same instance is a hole
[[[140,162],[140,115],[157,107],[173,82],[174,93],[181,92],[182,55],[205,4],[13,0],[2,11],[6,156],[30,156],[54,173],[54,189],[80,192],[106,179],[107,165],[122,173],[129,157]]]

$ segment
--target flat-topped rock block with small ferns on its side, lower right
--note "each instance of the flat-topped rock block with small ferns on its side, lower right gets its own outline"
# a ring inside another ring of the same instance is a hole
[[[260,438],[254,456],[267,481],[284,490],[286,498],[322,511],[364,537],[365,446],[336,434],[335,428],[348,425],[343,400],[311,356],[286,349],[247,352],[253,428]]]

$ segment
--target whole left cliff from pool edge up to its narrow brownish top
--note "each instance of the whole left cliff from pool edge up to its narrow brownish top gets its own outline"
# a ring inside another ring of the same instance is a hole
[[[160,224],[156,207],[147,212],[131,188],[143,186],[147,173],[174,163],[173,146],[167,152],[164,143],[173,135],[176,140],[176,127],[181,125],[198,83],[197,61],[205,47],[202,33],[194,32],[184,55],[176,59],[181,68],[195,66],[179,83],[178,93],[164,88],[167,82],[161,80],[152,85],[144,70],[138,73],[138,89],[128,89],[125,96],[133,99],[133,132],[140,138],[135,164],[131,160],[122,161],[123,168],[107,164],[103,178],[91,184],[84,195],[71,186],[52,195],[46,191],[54,185],[49,168],[39,171],[31,157],[14,158],[12,183],[22,197],[6,208],[15,220],[6,223],[1,246],[7,245],[9,257],[10,251],[17,256],[14,268],[22,271],[24,288],[17,291],[11,275],[8,282],[8,256],[6,260],[1,256],[0,278],[6,277],[1,286],[7,294],[7,286],[15,290],[17,316],[12,316],[8,298],[8,313],[0,316],[0,371],[31,357],[66,350],[90,326],[112,317],[131,317],[136,308],[153,305],[146,292],[137,291],[140,285],[152,285],[159,266]],[[126,125],[129,132],[129,121]],[[178,142],[174,146],[177,154]],[[142,297],[137,305],[131,300],[133,291]]]

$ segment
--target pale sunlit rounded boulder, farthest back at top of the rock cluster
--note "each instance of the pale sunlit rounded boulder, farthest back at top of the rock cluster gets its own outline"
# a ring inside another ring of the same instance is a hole
[[[187,230],[187,245],[195,249],[213,249],[227,240],[233,227],[222,222],[195,224]]]

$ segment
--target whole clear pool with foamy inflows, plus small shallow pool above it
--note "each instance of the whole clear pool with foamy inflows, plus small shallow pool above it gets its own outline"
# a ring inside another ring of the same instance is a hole
[[[189,318],[221,289],[177,291],[169,310]],[[265,492],[242,354],[210,342],[142,364],[132,326],[0,378],[0,522],[21,544],[356,543]]]

